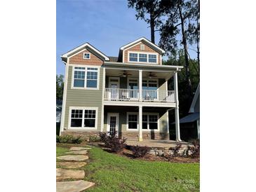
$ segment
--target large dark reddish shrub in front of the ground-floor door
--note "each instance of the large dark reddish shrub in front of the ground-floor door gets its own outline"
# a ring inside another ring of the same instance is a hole
[[[100,140],[115,153],[120,152],[126,146],[126,139],[119,139],[116,137],[116,134],[107,135],[105,132],[100,133]]]

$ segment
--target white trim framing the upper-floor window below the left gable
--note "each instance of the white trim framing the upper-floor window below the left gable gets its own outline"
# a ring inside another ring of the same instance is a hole
[[[74,67],[85,67],[85,78],[84,78],[84,87],[78,88],[74,87]],[[87,86],[87,68],[97,68],[97,88],[86,88]],[[81,89],[81,90],[99,90],[100,88],[100,67],[94,65],[79,65],[79,64],[72,64],[72,81],[71,81],[71,89]]]

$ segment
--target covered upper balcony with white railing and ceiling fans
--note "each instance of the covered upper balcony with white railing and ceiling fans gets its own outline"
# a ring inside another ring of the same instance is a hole
[[[105,62],[104,104],[175,107],[177,90],[168,90],[168,81],[173,77],[169,83],[175,84],[179,70],[177,66],[159,64]]]

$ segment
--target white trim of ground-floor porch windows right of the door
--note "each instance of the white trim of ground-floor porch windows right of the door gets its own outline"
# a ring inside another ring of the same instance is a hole
[[[129,125],[129,119],[128,119],[128,116],[129,115],[137,115],[137,129],[129,129],[128,128],[128,125]],[[157,115],[157,130],[150,130],[149,129],[149,118],[147,117],[147,130],[145,129],[142,129],[142,132],[151,132],[151,131],[154,131],[154,132],[159,132],[159,113],[142,113],[142,116],[143,115]],[[143,123],[143,121],[142,121]],[[139,130],[139,113],[137,112],[127,112],[126,114],[126,131],[135,131],[135,130]]]

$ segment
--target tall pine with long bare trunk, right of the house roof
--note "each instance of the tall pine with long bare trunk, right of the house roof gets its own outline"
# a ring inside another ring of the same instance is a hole
[[[167,16],[166,22],[162,23],[160,28],[161,39],[159,45],[161,48],[165,49],[169,56],[175,54],[177,50],[177,35],[180,34],[182,37],[180,44],[184,50],[185,86],[187,87],[189,102],[192,100],[192,84],[187,41],[189,37],[190,40],[193,39],[189,32],[191,32],[191,29],[194,29],[194,22],[192,20],[196,14],[195,4],[196,0],[162,0],[159,6]]]

